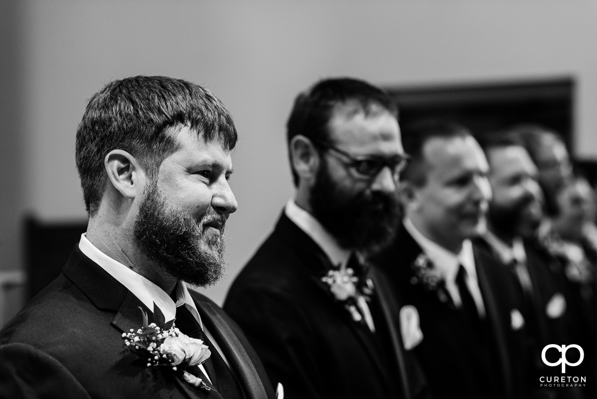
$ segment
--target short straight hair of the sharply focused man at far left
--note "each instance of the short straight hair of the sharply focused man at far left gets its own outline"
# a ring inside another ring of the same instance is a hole
[[[171,127],[186,126],[229,151],[238,139],[232,116],[209,90],[165,76],[109,82],[94,94],[76,131],[76,167],[87,213],[99,208],[106,184],[104,158],[122,149],[143,162],[150,178],[179,143]]]

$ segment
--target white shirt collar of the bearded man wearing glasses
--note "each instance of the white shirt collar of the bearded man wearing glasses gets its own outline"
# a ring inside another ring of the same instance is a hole
[[[312,214],[300,208],[294,202],[294,199],[290,199],[287,202],[284,213],[288,216],[288,219],[292,220],[294,224],[321,247],[333,265],[342,265],[347,262],[350,250],[340,247],[336,239],[325,230],[324,226]]]

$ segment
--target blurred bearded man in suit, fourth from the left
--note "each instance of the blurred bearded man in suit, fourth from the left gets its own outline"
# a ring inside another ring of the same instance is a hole
[[[563,265],[537,240],[537,229],[543,217],[537,167],[523,142],[511,132],[482,137],[481,144],[490,164],[489,180],[494,194],[483,244],[516,278],[523,293],[520,307],[533,340],[531,350],[536,370],[533,379],[561,375],[561,370],[547,367],[541,359],[546,345],[580,344],[587,354],[590,352],[584,345],[580,312],[571,300]],[[569,361],[574,363],[579,354],[571,350],[570,356]],[[547,351],[546,358],[555,363],[561,353]],[[574,370],[574,375],[586,375],[584,365],[591,361],[587,358],[584,364],[569,370]],[[558,397],[578,398],[583,397],[586,389],[557,389],[556,392]]]

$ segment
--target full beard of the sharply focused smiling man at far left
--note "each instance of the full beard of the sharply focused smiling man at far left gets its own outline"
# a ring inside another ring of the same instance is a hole
[[[221,223],[221,234],[204,235],[204,226],[215,220]],[[139,205],[134,235],[143,253],[165,274],[208,287],[223,276],[225,222],[225,216],[209,212],[194,219],[168,204],[153,183]]]

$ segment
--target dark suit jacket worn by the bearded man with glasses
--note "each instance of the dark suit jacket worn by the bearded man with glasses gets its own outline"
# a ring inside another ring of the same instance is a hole
[[[287,399],[426,394],[416,364],[404,357],[401,343],[390,342],[380,287],[370,305],[373,334],[319,280],[331,268],[321,248],[282,214],[232,284],[224,310],[244,330],[270,379],[282,382]]]

